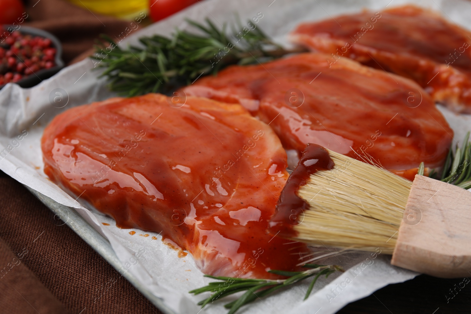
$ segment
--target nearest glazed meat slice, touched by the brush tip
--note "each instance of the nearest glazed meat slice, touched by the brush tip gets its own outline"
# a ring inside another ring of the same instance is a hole
[[[119,227],[162,231],[205,274],[297,269],[306,246],[266,231],[288,177],[275,133],[239,105],[172,99],[113,98],[59,114],[42,137],[44,172]]]

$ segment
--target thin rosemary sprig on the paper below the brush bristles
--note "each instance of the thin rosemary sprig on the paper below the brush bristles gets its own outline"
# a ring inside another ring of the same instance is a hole
[[[210,275],[204,275],[205,277],[210,277],[213,279],[219,280],[219,282],[210,282],[207,286],[191,290],[189,293],[195,295],[211,291],[213,292],[211,296],[202,300],[198,303],[201,307],[206,306],[210,302],[214,302],[219,298],[227,297],[231,294],[246,291],[240,298],[237,298],[235,301],[227,303],[224,305],[229,312],[227,314],[235,313],[241,306],[244,306],[247,303],[255,301],[257,298],[263,298],[272,292],[288,287],[296,282],[300,282],[307,278],[313,277],[313,281],[309,284],[309,288],[306,292],[304,299],[309,297],[309,294],[314,287],[317,279],[321,275],[328,277],[330,274],[335,271],[344,272],[344,270],[337,265],[318,265],[318,264],[305,264],[303,267],[309,268],[308,270],[302,272],[287,272],[281,270],[270,270],[269,273],[277,274],[281,276],[289,277],[287,279],[280,280],[270,280],[270,279],[245,279],[237,277],[214,277]]]

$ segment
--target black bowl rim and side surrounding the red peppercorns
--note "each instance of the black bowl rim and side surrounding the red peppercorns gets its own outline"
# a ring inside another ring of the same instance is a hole
[[[1,27],[1,26],[0,26]],[[6,31],[8,29],[15,29],[13,25],[3,25],[3,30]],[[60,41],[57,39],[56,36],[51,34],[50,32],[46,32],[43,30],[40,30],[38,28],[34,27],[29,27],[29,26],[21,26],[18,29],[18,32],[21,32],[22,34],[25,35],[32,35],[32,36],[40,36],[43,38],[49,38],[52,42],[52,47],[56,48],[56,58],[55,58],[55,63],[56,66],[50,68],[50,69],[41,69],[37,72],[34,72],[20,81],[17,81],[15,84],[18,84],[21,87],[28,88],[28,87],[33,87],[34,85],[37,85],[41,83],[42,80],[48,79],[57,72],[59,72],[60,69],[64,67],[64,61],[62,61],[61,56],[62,56],[62,45]],[[34,75],[36,74],[36,75]],[[6,84],[0,85],[0,89],[3,88]]]

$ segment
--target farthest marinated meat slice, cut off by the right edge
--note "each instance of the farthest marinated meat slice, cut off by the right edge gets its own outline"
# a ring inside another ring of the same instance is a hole
[[[300,24],[293,41],[419,83],[437,102],[471,113],[471,32],[413,5]]]

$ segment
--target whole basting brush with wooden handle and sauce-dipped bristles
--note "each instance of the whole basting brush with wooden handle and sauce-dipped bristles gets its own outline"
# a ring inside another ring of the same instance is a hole
[[[300,242],[392,254],[437,277],[471,274],[471,193],[309,144],[288,179],[270,232]]]

